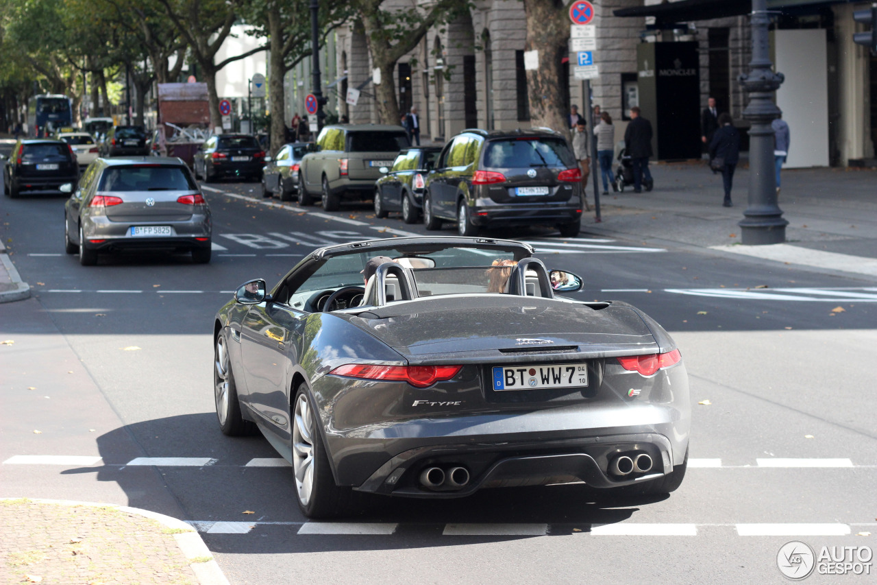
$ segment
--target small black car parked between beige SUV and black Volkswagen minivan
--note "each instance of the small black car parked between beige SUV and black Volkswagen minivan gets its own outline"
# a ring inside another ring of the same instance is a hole
[[[440,147],[403,148],[391,168],[381,167],[384,176],[374,183],[374,214],[384,218],[391,211],[401,211],[405,223],[416,223],[424,203],[426,175],[440,152]]]

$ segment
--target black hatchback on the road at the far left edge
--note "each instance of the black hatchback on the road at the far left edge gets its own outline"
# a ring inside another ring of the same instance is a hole
[[[75,185],[79,164],[67,142],[21,140],[4,165],[4,192],[18,197],[22,191],[59,191],[62,184]]]

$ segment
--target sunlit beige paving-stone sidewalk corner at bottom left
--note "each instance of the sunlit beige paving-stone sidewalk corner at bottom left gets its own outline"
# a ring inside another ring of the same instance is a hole
[[[2,500],[0,526],[0,583],[228,583],[196,531],[146,510]]]

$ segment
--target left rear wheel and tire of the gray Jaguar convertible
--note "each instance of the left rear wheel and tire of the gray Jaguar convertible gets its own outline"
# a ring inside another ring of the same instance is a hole
[[[307,414],[302,410],[307,406]],[[353,489],[338,486],[332,477],[329,456],[323,437],[318,429],[319,417],[315,416],[313,401],[302,384],[290,410],[293,418],[292,458],[295,476],[296,502],[305,517],[331,518],[342,516],[353,508]],[[310,417],[310,427],[306,418]],[[310,445],[308,443],[310,442]],[[310,446],[310,459],[308,447]],[[310,462],[310,491],[305,487]],[[300,467],[301,466],[301,467]],[[301,477],[299,477],[301,475]]]

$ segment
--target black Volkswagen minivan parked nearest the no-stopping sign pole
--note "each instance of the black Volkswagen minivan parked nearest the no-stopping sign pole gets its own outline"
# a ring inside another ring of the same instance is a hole
[[[426,229],[457,221],[470,236],[479,227],[548,225],[574,237],[583,208],[578,162],[550,130],[465,130],[426,177]]]

